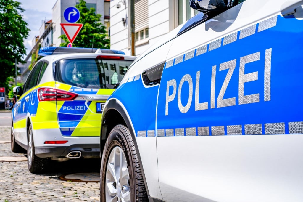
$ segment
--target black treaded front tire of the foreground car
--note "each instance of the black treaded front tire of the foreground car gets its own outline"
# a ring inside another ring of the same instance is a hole
[[[129,183],[129,199],[126,201],[148,201],[147,192],[145,183],[143,180],[143,174],[141,171],[141,163],[139,162],[137,151],[134,146],[134,142],[132,140],[131,133],[128,128],[123,125],[115,126],[112,131],[109,133],[108,138],[105,142],[105,146],[102,153],[101,160],[101,170],[100,170],[100,201],[106,201],[106,197],[109,196],[109,192],[107,192],[107,187],[109,186],[106,183],[108,179],[108,162],[111,157],[112,151],[116,150],[121,151],[126,158],[127,169],[128,169],[128,183]],[[122,161],[120,161],[122,162]],[[118,180],[117,180],[118,181]],[[121,180],[122,181],[122,180]],[[119,182],[122,184],[121,182]],[[115,183],[114,183],[115,184]],[[114,185],[113,185],[114,186]],[[117,200],[118,200],[118,190],[120,191],[120,196],[123,194],[123,189],[116,188],[117,190]]]

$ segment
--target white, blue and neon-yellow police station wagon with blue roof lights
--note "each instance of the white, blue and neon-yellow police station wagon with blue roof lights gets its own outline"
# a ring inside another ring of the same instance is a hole
[[[12,110],[12,151],[27,152],[32,173],[43,171],[50,160],[100,158],[104,103],[135,57],[67,47],[41,48],[39,54],[45,57],[23,89],[14,88],[21,97]]]

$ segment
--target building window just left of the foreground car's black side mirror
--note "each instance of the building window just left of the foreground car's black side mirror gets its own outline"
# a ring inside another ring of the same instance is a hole
[[[178,25],[186,22],[188,19],[196,15],[199,11],[189,6],[189,1],[178,0]]]

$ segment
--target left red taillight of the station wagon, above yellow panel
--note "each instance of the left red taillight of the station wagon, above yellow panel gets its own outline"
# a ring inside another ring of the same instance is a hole
[[[73,100],[78,94],[54,88],[39,88],[39,101]]]

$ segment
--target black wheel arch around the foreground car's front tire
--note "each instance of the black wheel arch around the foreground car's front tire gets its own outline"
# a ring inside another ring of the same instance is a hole
[[[133,130],[132,123],[129,120],[129,116],[127,115],[127,112],[125,112],[124,108],[121,106],[120,103],[117,102],[116,99],[109,99],[107,101],[108,103],[106,104],[105,108],[103,109],[103,114],[102,114],[102,120],[101,120],[101,133],[100,133],[100,154],[102,155],[102,151],[106,142],[106,139],[111,132],[111,130],[118,124],[122,124],[128,128],[132,135],[132,140],[134,142],[138,159],[141,164],[141,170],[143,174],[143,179],[145,183],[145,188],[147,195],[149,196],[149,191],[148,191],[148,186],[146,183],[146,178],[145,178],[145,173],[142,165],[142,160],[140,156],[140,152],[138,149],[138,144],[136,141],[136,135]],[[100,157],[102,158],[102,156]]]

